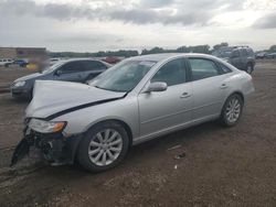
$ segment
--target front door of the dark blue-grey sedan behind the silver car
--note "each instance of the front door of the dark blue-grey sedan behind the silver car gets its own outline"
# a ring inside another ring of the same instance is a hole
[[[55,69],[54,79],[82,83],[84,66],[82,61],[72,61]]]

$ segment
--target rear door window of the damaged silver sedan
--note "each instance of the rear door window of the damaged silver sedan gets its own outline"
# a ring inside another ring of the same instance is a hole
[[[205,58],[189,58],[192,80],[204,79],[221,75],[220,68],[213,61]]]

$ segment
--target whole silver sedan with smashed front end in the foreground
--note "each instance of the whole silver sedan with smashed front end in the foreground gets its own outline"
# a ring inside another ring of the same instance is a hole
[[[134,144],[215,119],[235,126],[253,91],[251,75],[203,54],[128,58],[88,85],[38,80],[11,164],[34,145],[54,165],[105,171]]]

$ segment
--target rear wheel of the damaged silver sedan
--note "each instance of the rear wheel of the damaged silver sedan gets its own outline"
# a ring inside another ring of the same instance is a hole
[[[220,121],[224,127],[233,127],[240,121],[242,113],[243,99],[240,95],[234,94],[226,99],[222,108]]]

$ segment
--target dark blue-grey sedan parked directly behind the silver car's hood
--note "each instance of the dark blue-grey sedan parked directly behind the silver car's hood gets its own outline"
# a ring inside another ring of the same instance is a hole
[[[86,83],[108,67],[110,65],[105,62],[88,58],[60,61],[41,73],[14,80],[11,85],[11,94],[13,97],[31,98],[34,83],[38,79]]]

